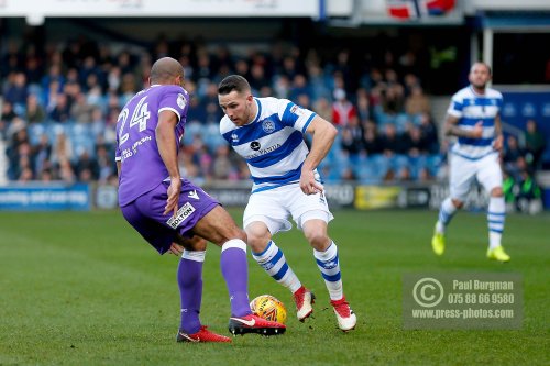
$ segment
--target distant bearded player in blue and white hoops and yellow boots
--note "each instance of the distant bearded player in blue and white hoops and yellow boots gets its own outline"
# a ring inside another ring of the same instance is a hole
[[[505,220],[503,175],[498,162],[503,145],[499,117],[503,96],[487,87],[491,68],[484,63],[471,67],[469,80],[469,87],[452,96],[447,111],[446,135],[457,136],[458,141],[449,154],[450,197],[441,203],[431,245],[437,255],[443,254],[446,228],[464,204],[473,181],[477,179],[490,193],[487,257],[508,262],[510,257],[501,245]]]

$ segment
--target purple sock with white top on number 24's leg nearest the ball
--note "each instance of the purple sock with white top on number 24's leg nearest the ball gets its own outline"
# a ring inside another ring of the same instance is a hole
[[[221,247],[220,266],[228,286],[231,317],[240,318],[251,314],[246,244],[240,239],[226,242]]]

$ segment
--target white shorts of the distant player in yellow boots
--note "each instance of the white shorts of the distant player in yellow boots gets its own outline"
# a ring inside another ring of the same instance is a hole
[[[477,179],[487,192],[503,186],[498,154],[490,154],[477,160],[468,159],[457,154],[450,154],[449,157],[451,198],[464,202],[474,179]]]

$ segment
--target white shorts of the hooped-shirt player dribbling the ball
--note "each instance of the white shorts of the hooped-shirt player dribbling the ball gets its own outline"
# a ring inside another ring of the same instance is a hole
[[[300,230],[306,221],[319,219],[328,223],[334,218],[324,193],[308,196],[299,185],[289,185],[252,193],[244,210],[243,226],[261,221],[275,235],[293,228],[289,215]]]

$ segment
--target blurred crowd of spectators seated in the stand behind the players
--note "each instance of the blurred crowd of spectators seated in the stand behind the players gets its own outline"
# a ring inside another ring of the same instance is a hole
[[[246,164],[219,135],[217,85],[233,73],[245,76],[256,96],[288,98],[337,125],[337,143],[320,167],[327,181],[427,181],[446,174],[446,146],[422,90],[422,71],[407,51],[365,57],[358,70],[348,49],[326,57],[278,42],[246,55],[163,37],[151,49],[82,36],[40,47],[7,44],[0,55],[0,138],[12,181],[116,181],[121,107],[147,86],[152,60],[167,55],[186,70],[191,100],[179,158],[183,174],[198,184],[249,177]]]

